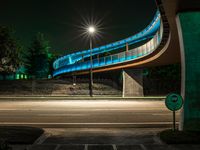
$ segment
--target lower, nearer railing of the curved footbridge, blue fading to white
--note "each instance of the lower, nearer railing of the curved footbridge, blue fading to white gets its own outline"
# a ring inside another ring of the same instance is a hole
[[[75,64],[66,65],[64,67],[61,67],[55,70],[53,76],[75,72],[75,71],[88,70],[90,69],[91,66],[92,68],[99,68],[99,67],[105,67],[105,66],[114,65],[114,64],[120,65],[120,63],[133,61],[141,57],[145,57],[151,54],[154,50],[158,48],[162,40],[162,35],[163,35],[163,26],[161,22],[159,30],[156,32],[153,38],[145,44],[137,48],[131,49],[129,51],[124,51],[118,54],[94,59],[92,62],[92,65],[90,61],[76,62]]]

